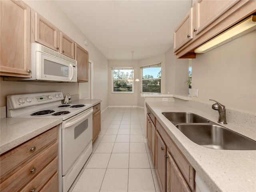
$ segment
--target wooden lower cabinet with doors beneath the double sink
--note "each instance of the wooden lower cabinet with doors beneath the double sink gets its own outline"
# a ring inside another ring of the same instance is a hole
[[[161,192],[195,192],[195,170],[156,120],[155,168]]]

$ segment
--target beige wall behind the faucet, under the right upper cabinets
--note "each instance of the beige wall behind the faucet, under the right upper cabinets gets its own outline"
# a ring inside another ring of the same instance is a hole
[[[256,114],[256,31],[192,60],[192,100]]]

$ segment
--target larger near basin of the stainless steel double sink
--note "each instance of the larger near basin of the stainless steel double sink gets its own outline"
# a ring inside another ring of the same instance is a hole
[[[256,150],[256,142],[225,127],[210,124],[178,124],[176,127],[200,146],[223,150]]]

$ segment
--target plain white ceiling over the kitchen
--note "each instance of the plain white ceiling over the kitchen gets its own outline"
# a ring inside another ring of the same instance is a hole
[[[54,1],[109,60],[138,60],[166,52],[191,0]]]

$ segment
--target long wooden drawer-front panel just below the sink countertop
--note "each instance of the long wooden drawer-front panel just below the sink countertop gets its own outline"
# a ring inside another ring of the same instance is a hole
[[[195,188],[195,170],[192,165],[188,162],[186,157],[180,152],[176,144],[172,141],[170,136],[165,132],[161,124],[156,121],[156,128],[163,138],[167,148],[170,150],[170,154],[174,158],[175,163],[177,164],[180,172],[184,176],[185,180],[188,182],[191,190]]]

